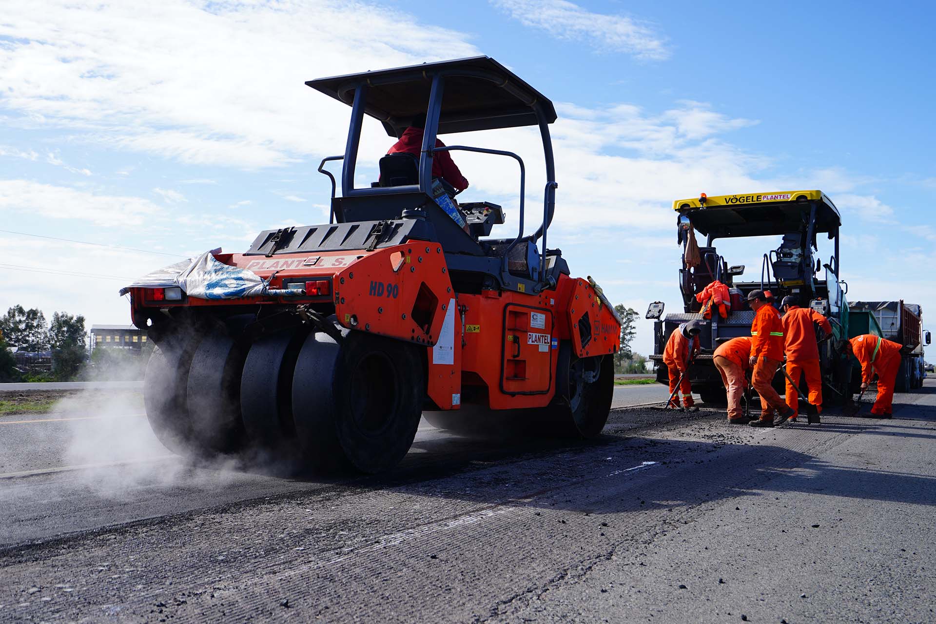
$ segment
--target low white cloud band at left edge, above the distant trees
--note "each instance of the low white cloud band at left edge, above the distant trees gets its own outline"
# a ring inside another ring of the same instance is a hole
[[[94,195],[66,186],[26,180],[0,180],[0,209],[106,226],[143,225],[148,217],[162,210],[139,197]]]

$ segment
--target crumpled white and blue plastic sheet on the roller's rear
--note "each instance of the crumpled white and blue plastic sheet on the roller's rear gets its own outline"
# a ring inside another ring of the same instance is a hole
[[[257,297],[267,291],[267,283],[246,268],[229,267],[218,262],[212,252],[195,260],[183,260],[160,268],[121,288],[123,296],[130,288],[170,288],[179,286],[189,297],[201,299],[236,299]]]

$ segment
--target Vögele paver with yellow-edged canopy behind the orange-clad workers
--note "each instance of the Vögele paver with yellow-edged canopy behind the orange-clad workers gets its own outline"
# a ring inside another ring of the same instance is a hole
[[[677,214],[677,241],[682,246],[679,271],[682,310],[663,316],[665,302],[651,304],[647,318],[654,321],[654,353],[657,381],[668,384],[668,370],[663,352],[669,334],[680,324],[698,321],[701,350],[690,365],[688,374],[693,392],[709,404],[724,405],[725,389],[712,354],[724,342],[751,335],[754,312],[746,298],[754,290],[769,291],[779,305],[782,297],[797,299],[829,318],[830,340],[820,343],[820,369],[826,388],[826,403],[843,402],[850,397],[851,362],[843,354],[843,341],[849,337],[848,286],[840,279],[841,216],[832,200],[819,190],[779,191],[746,195],[706,196],[673,202]],[[698,264],[687,263],[686,251],[695,233],[706,237],[698,245]],[[819,257],[819,237],[831,241],[831,254]],[[762,247],[759,278],[739,279],[745,266],[732,265],[716,247],[720,239],[773,237],[776,247]],[[718,280],[731,295],[730,312],[721,318],[718,312],[704,318],[698,296],[706,286]],[[782,376],[775,384],[782,392]]]

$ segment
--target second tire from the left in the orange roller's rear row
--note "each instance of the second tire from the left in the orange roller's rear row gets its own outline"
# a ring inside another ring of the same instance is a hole
[[[241,370],[246,350],[217,328],[198,344],[189,369],[187,397],[192,439],[206,456],[240,451]]]

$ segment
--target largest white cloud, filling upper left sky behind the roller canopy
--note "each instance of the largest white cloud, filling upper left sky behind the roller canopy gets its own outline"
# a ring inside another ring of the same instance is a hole
[[[11,123],[245,168],[344,144],[347,107],[304,80],[478,53],[459,33],[354,0],[9,0],[0,36]]]

